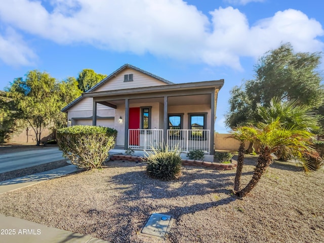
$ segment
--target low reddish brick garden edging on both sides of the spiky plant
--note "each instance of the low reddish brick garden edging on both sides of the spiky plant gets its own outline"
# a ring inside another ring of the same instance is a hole
[[[141,162],[144,160],[144,158],[141,156],[114,154],[111,156],[110,160],[127,160],[127,161]],[[234,161],[229,164],[222,164],[222,163],[208,162],[202,160],[181,159],[181,163],[183,166],[196,166],[196,167],[203,167],[207,169],[222,170],[222,171],[233,170],[237,167],[237,164]]]

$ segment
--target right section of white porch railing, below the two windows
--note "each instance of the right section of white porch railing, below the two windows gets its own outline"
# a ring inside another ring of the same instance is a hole
[[[184,152],[200,149],[210,153],[210,130],[169,129],[167,134],[169,146],[178,145]]]

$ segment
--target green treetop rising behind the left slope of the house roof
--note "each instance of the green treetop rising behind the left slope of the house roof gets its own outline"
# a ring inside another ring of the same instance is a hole
[[[96,73],[93,69],[83,69],[77,77],[78,88],[83,92],[94,87],[107,75]]]

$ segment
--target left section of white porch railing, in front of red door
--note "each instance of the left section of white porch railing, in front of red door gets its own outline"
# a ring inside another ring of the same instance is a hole
[[[149,150],[163,142],[163,129],[129,129],[128,147]]]

